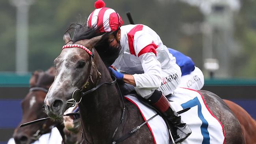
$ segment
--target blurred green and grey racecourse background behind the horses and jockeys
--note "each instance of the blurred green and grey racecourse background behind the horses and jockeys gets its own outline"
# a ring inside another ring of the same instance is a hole
[[[95,0],[0,1],[0,144],[21,119],[20,100],[35,70],[60,54],[63,34],[83,22]],[[145,24],[163,43],[189,56],[205,76],[203,89],[230,99],[256,118],[256,1],[104,0],[125,24]]]

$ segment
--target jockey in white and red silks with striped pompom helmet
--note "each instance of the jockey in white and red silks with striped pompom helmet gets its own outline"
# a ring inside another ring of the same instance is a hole
[[[174,93],[181,81],[182,73],[175,57],[148,26],[122,26],[120,15],[105,7],[102,0],[95,2],[95,8],[89,15],[87,27],[97,28],[100,33],[109,33],[109,45],[120,48],[119,57],[112,66],[128,73],[121,74],[109,68],[113,75],[124,83],[134,85],[137,94],[163,113],[176,128],[174,141],[184,141],[191,134],[191,129],[181,122],[180,116],[166,98]]]

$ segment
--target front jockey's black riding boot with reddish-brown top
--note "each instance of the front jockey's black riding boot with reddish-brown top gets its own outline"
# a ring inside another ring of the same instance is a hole
[[[173,137],[175,143],[183,142],[191,134],[191,129],[186,123],[181,122],[180,116],[174,111],[167,98],[162,95],[162,92],[155,90],[147,100],[173,124],[176,129]]]

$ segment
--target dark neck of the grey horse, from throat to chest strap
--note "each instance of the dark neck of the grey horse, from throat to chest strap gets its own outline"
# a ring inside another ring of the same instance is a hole
[[[98,84],[113,81],[105,66],[98,68],[102,77]],[[102,85],[83,96],[79,103],[83,134],[89,142],[110,141],[121,120],[122,100],[115,85]]]

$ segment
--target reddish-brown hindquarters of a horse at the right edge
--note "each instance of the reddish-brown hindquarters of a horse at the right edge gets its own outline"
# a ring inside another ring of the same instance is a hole
[[[256,144],[256,121],[245,109],[234,102],[224,100],[239,120],[246,144]]]

